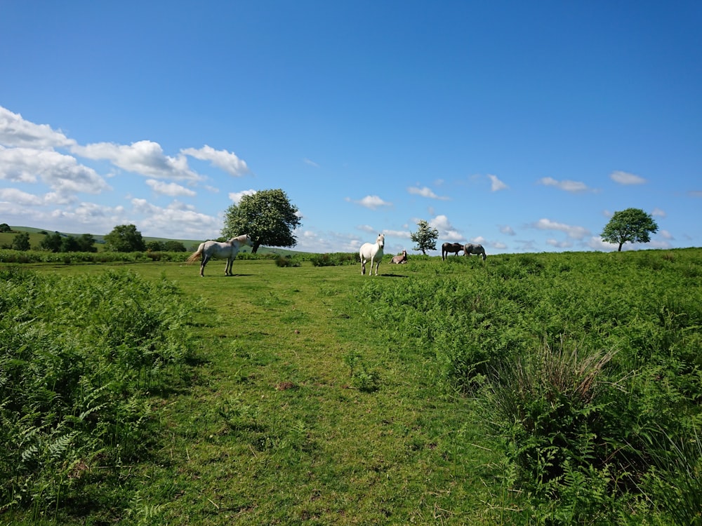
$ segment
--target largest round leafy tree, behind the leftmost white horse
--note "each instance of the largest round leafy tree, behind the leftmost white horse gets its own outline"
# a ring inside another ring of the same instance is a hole
[[[282,189],[260,190],[227,208],[222,236],[229,239],[249,234],[253,241],[251,252],[255,254],[261,245],[297,245],[293,230],[300,224],[298,208]]]

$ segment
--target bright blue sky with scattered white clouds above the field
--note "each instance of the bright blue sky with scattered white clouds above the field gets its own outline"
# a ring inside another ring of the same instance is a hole
[[[206,239],[281,188],[297,250],[418,220],[488,254],[702,246],[702,2],[0,2],[0,222]],[[438,252],[433,252],[437,254]]]

